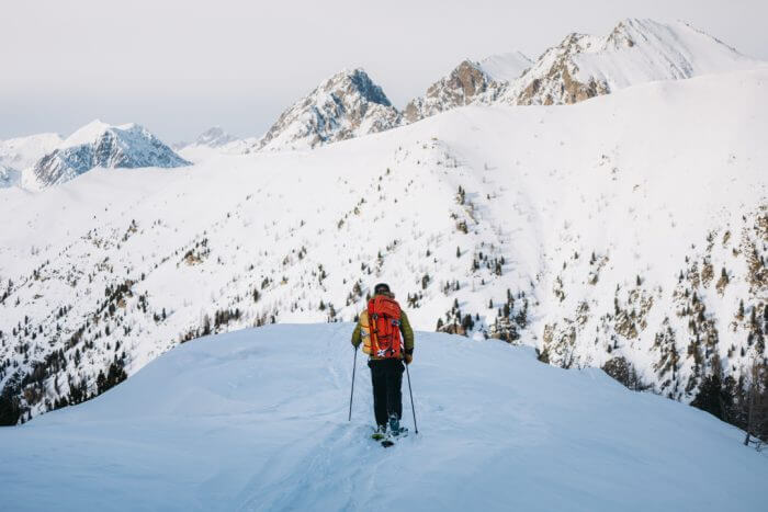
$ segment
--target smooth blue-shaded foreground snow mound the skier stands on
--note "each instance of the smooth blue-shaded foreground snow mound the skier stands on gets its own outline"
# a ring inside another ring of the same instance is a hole
[[[714,417],[499,341],[417,333],[419,434],[384,450],[352,326],[182,345],[0,429],[9,510],[765,510],[768,457]],[[405,377],[404,377],[405,380]],[[404,423],[413,431],[404,382]]]

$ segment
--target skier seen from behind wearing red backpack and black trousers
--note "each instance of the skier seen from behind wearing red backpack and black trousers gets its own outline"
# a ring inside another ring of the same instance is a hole
[[[376,418],[373,439],[384,439],[387,426],[391,435],[399,435],[405,432],[400,428],[403,362],[410,364],[414,361],[414,331],[386,283],[379,283],[373,288],[373,297],[352,332],[355,350],[360,343],[369,355],[368,366],[373,384],[373,412]]]

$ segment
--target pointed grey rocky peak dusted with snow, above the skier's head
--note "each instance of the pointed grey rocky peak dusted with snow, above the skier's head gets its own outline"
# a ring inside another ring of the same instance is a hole
[[[283,112],[251,150],[314,148],[400,124],[400,114],[362,69],[335,75]]]

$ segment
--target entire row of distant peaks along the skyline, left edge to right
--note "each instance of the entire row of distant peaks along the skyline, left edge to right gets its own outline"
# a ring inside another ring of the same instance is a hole
[[[261,137],[214,127],[179,153],[138,125],[93,122],[63,140],[55,134],[0,141],[0,186],[45,187],[94,168],[187,166],[213,153],[318,146],[410,124],[466,105],[576,103],[630,86],[754,67],[758,62],[681,22],[623,20],[606,36],[568,34],[531,60],[508,53],[462,60],[423,95],[397,110],[363,69],[343,70],[285,110]]]

